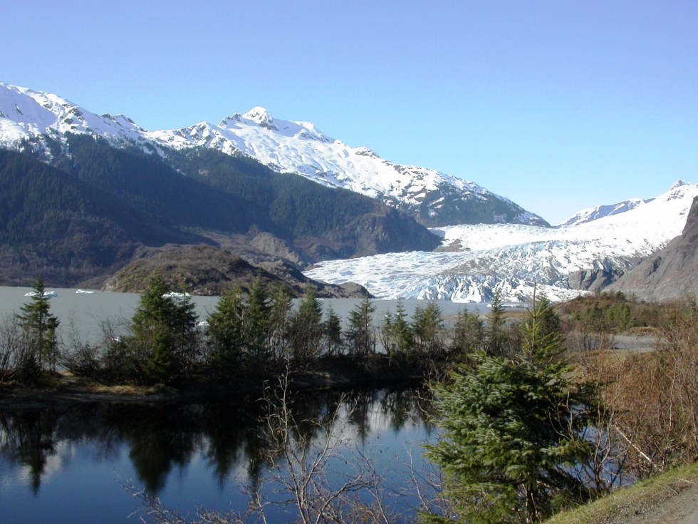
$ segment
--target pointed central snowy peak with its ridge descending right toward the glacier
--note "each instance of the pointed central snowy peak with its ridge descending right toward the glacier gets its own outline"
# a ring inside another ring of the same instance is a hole
[[[203,146],[244,154],[278,172],[298,173],[405,210],[426,225],[517,222],[546,225],[536,215],[484,187],[438,171],[397,165],[369,148],[353,148],[308,122],[278,120],[266,109],[235,113],[219,125],[199,123],[149,136],[172,148]]]

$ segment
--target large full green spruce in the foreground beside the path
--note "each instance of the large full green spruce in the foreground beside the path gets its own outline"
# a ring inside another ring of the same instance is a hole
[[[534,304],[516,358],[474,354],[474,369],[456,369],[434,386],[443,433],[426,454],[443,468],[466,522],[536,522],[590,496],[573,466],[590,453],[578,435],[594,399],[553,358],[561,337],[541,332],[547,307]]]

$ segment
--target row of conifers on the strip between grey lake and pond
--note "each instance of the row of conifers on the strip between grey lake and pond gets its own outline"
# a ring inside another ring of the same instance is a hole
[[[424,359],[448,359],[462,351],[467,337],[457,322],[445,327],[435,302],[417,307],[407,319],[402,302],[395,315],[376,324],[373,300],[363,299],[345,326],[331,306],[324,307],[308,287],[294,306],[283,284],[268,287],[260,275],[249,292],[233,287],[204,320],[187,294],[170,292],[156,274],[142,293],[134,314],[117,325],[103,322],[95,344],[71,334],[59,341],[58,319],[39,279],[31,300],[0,329],[0,376],[5,380],[41,381],[62,367],[78,376],[110,383],[175,384],[208,376],[219,384],[241,375],[275,374],[291,366],[308,370],[328,361],[370,366],[387,359],[395,368],[418,369]],[[481,329],[481,320],[473,321]]]

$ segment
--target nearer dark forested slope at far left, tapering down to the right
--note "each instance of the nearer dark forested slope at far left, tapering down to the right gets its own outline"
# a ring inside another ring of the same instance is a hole
[[[125,263],[138,245],[205,242],[108,192],[0,149],[0,283],[74,284]]]

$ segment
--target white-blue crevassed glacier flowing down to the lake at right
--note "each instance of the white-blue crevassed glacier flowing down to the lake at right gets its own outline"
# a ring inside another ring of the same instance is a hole
[[[390,253],[321,262],[308,277],[364,285],[377,297],[525,301],[533,287],[552,300],[575,297],[595,277],[620,274],[680,235],[698,185],[679,180],[654,199],[557,228],[458,225],[435,230],[441,252]],[[571,285],[572,284],[572,285]]]

